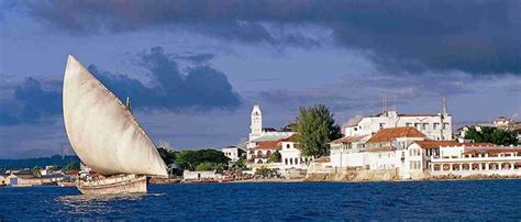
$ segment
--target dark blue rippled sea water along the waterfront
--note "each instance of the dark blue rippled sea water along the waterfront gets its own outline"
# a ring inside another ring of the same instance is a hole
[[[76,188],[0,188],[1,220],[521,220],[521,180],[152,185],[89,198]]]

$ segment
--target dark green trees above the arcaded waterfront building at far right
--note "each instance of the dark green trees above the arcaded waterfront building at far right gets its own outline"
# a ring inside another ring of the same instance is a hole
[[[486,126],[483,126],[480,131],[472,126],[465,133],[465,138],[473,140],[475,143],[494,143],[505,146],[519,144],[517,136],[513,131]]]

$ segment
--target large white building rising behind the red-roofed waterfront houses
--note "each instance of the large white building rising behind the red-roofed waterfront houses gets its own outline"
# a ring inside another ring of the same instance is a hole
[[[411,126],[422,132],[428,138],[445,141],[452,138],[452,116],[446,110],[436,114],[401,114],[387,110],[380,114],[355,118],[344,127],[346,136],[370,135],[381,129]]]

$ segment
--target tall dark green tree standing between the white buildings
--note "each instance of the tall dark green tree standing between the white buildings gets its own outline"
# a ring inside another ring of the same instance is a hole
[[[329,154],[329,142],[341,137],[333,113],[323,106],[300,107],[296,120],[297,148],[304,156],[320,157]]]

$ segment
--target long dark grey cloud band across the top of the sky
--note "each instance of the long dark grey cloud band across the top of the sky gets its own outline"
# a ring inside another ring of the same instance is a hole
[[[521,74],[521,3],[511,1],[33,1],[38,21],[73,32],[178,25],[243,42],[318,44],[318,25],[342,46],[372,52],[386,70]],[[279,29],[268,29],[265,24]],[[282,34],[281,34],[282,33]]]

